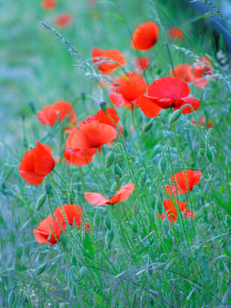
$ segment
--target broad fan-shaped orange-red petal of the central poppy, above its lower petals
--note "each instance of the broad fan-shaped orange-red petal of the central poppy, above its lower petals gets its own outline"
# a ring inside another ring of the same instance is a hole
[[[111,142],[117,136],[111,125],[101,124],[98,120],[80,125],[71,138],[71,148],[90,149]]]

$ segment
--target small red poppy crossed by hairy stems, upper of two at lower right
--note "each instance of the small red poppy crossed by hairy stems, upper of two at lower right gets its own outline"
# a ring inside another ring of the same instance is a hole
[[[201,171],[197,170],[197,171],[193,171],[193,170],[186,170],[185,171],[186,177],[187,177],[187,181],[188,181],[188,187],[187,187],[187,183],[186,183],[186,178],[184,176],[184,171],[180,171],[174,174],[175,176],[175,180],[176,180],[176,185],[177,185],[177,193],[187,193],[188,192],[188,188],[189,191],[191,191],[193,189],[193,186],[198,184],[201,178]],[[172,181],[172,183],[175,184],[173,176],[170,178],[170,180]],[[169,185],[165,185],[165,187],[168,190],[168,193],[171,195],[171,189],[169,187]],[[172,192],[173,195],[176,195],[176,187],[175,185],[171,185],[172,188]]]

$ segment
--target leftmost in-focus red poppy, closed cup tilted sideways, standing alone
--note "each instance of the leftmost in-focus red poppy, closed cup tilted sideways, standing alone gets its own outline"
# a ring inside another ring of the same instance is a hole
[[[44,177],[55,168],[51,148],[38,141],[36,144],[37,147],[24,154],[19,165],[19,173],[22,178],[33,185],[41,184]]]

